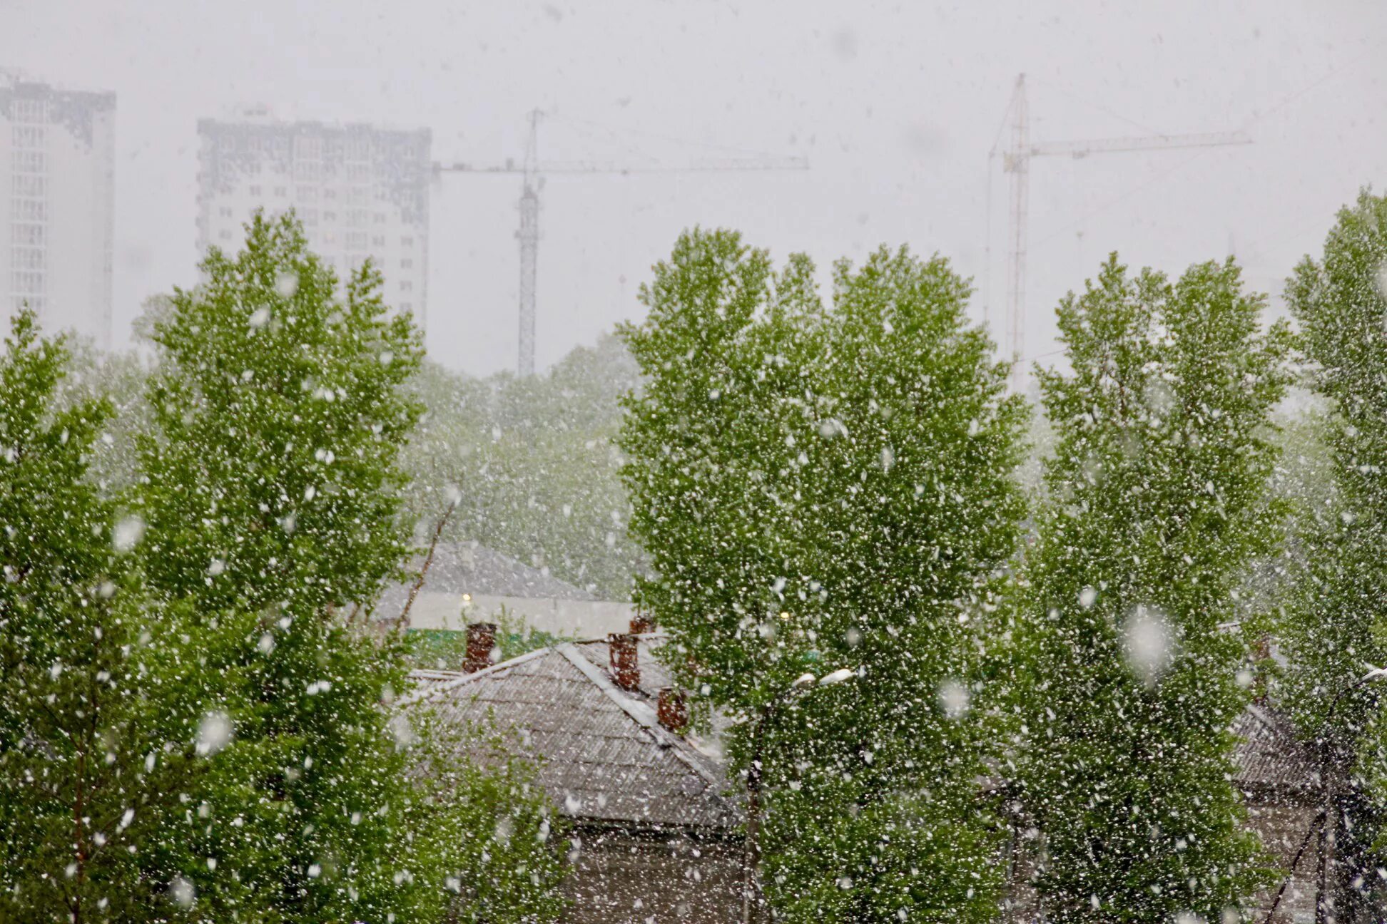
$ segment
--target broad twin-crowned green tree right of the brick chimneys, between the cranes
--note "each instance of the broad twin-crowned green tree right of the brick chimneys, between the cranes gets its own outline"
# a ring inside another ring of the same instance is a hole
[[[999,826],[967,704],[1025,410],[946,260],[842,262],[831,309],[813,276],[695,230],[642,288],[621,447],[655,576],[635,598],[705,705],[745,719],[732,762],[778,916],[990,920]],[[835,668],[857,679],[793,686]]]

